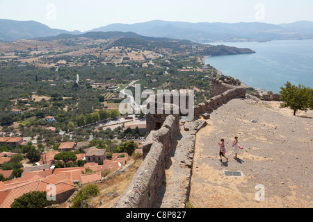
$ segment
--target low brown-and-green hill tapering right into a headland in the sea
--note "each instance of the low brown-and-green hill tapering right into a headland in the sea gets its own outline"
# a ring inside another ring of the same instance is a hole
[[[0,53],[9,53],[18,50],[21,55],[24,55],[22,58],[26,59],[31,56],[27,56],[27,53],[31,53],[35,57],[38,57],[38,52],[40,56],[44,56],[44,51],[51,56],[54,56],[54,53],[56,52],[58,52],[59,56],[63,53],[67,53],[67,56],[74,56],[69,55],[68,53],[75,51],[77,53],[80,52],[81,56],[86,53],[91,53],[96,56],[100,50],[102,53],[106,51],[107,56],[110,54],[111,56],[115,56],[115,58],[129,57],[127,56],[126,51],[125,53],[113,55],[113,51],[111,50],[110,52],[111,47],[118,49],[118,53],[124,49],[140,49],[143,51],[150,51],[152,54],[168,56],[224,56],[255,53],[255,51],[250,49],[239,49],[223,45],[211,46],[209,44],[191,42],[190,40],[178,40],[166,37],[147,37],[132,32],[119,31],[89,32],[79,35],[61,34],[50,37],[38,37],[31,40],[8,42],[6,44],[1,44]],[[26,53],[26,51],[28,52]],[[40,54],[40,52],[43,54]],[[16,52],[15,56],[17,56]]]

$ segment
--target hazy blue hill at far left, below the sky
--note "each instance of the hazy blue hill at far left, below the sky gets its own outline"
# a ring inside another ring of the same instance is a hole
[[[49,28],[49,26],[35,21],[0,19],[0,40],[4,42],[13,42],[33,37],[54,36],[61,33],[77,34],[80,32],[69,32],[62,29]]]

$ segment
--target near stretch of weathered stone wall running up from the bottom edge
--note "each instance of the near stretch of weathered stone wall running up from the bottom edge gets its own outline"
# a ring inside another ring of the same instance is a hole
[[[177,124],[178,123],[178,124]],[[113,208],[150,208],[165,176],[165,163],[177,141],[179,118],[169,115],[159,130],[152,131],[143,146],[145,160],[131,184]]]

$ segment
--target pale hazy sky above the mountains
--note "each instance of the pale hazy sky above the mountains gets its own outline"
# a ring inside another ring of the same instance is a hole
[[[113,23],[313,21],[313,0],[0,0],[0,19],[88,31]]]

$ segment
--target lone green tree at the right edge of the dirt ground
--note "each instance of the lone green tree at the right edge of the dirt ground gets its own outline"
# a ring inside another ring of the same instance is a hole
[[[294,110],[294,116],[298,110],[312,110],[312,89],[304,87],[303,85],[291,85],[287,82],[284,84],[286,87],[280,87],[280,99],[284,102],[281,103],[283,108],[291,108]]]

